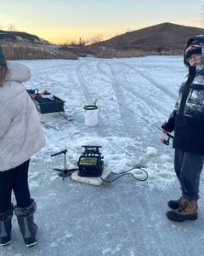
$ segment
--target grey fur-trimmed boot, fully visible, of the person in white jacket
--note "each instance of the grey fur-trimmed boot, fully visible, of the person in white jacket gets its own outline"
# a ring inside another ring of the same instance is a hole
[[[36,212],[36,202],[31,199],[30,207],[14,207],[15,215],[17,216],[20,226],[20,233],[23,236],[26,247],[34,246],[37,234],[37,225],[34,223],[33,215]]]

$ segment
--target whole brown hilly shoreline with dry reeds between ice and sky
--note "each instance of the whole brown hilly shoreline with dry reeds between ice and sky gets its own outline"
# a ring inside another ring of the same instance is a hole
[[[26,32],[0,30],[0,44],[10,60],[16,59],[77,59],[78,56],[133,57],[143,55],[183,55],[186,41],[203,28],[161,23],[114,38],[84,45],[54,45]],[[18,50],[17,50],[18,49]]]

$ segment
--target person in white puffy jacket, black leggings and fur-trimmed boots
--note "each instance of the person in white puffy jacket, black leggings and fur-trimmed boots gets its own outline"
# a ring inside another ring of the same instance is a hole
[[[22,82],[29,68],[6,61],[0,46],[0,245],[11,241],[12,216],[18,219],[26,247],[36,244],[36,202],[28,187],[29,161],[45,144],[35,105]],[[14,191],[16,206],[11,202]]]

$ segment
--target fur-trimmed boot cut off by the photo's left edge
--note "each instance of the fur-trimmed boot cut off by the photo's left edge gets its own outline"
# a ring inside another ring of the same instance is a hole
[[[11,204],[10,209],[6,212],[0,212],[0,246],[6,246],[11,242],[11,218],[14,213],[14,205]]]

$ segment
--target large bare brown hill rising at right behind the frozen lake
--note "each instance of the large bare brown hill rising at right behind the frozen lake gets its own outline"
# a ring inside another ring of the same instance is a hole
[[[144,54],[181,55],[186,41],[198,34],[204,34],[204,29],[165,22],[126,32],[99,44],[93,44],[92,47],[138,50]]]

